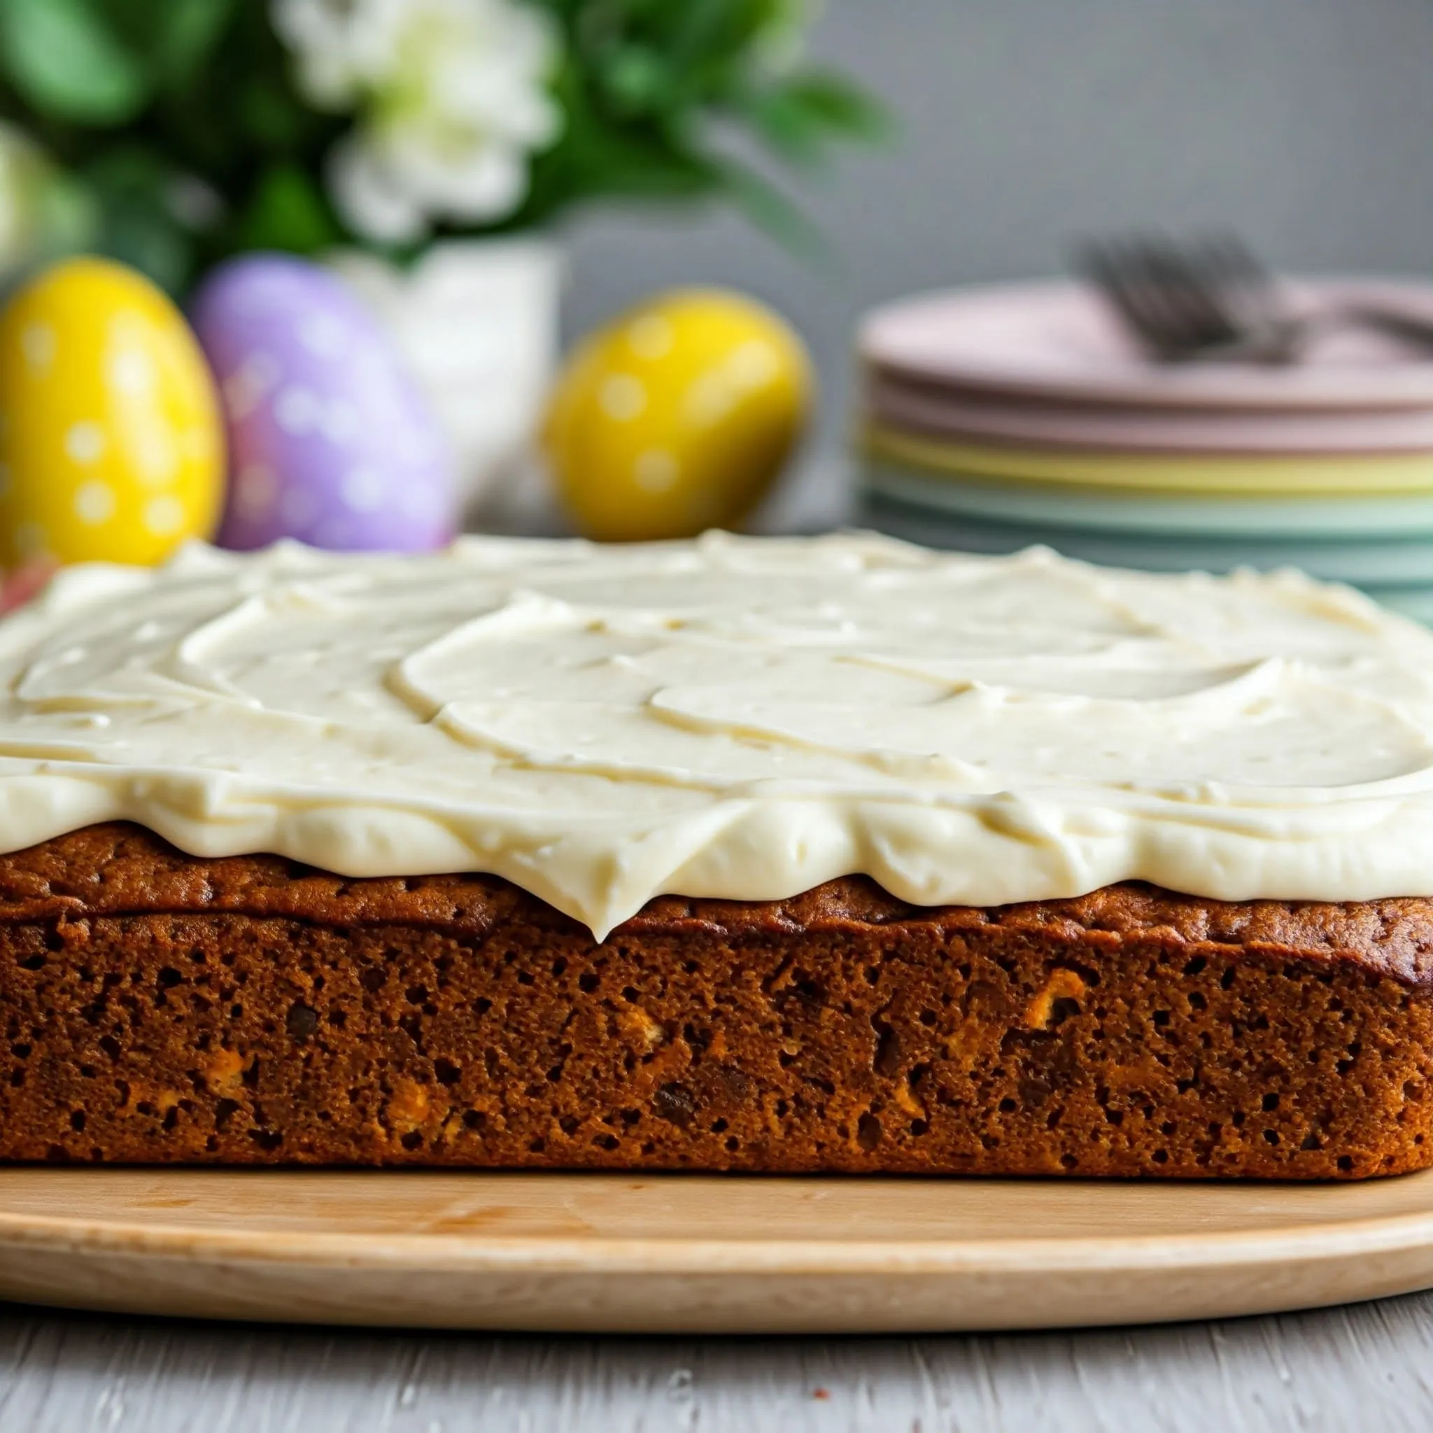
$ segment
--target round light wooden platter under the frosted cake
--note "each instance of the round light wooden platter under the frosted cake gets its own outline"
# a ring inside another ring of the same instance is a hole
[[[1433,1171],[1344,1185],[0,1169],[0,1297],[600,1333],[1148,1323],[1433,1287]]]

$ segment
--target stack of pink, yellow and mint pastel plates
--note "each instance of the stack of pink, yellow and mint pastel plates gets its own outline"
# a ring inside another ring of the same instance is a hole
[[[1433,285],[1298,295],[1433,322]],[[860,358],[877,527],[1125,567],[1294,566],[1433,620],[1433,350],[1330,325],[1297,364],[1154,364],[1095,294],[1042,284],[884,308]]]

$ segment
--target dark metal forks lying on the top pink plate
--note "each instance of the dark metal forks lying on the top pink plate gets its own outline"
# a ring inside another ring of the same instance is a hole
[[[1295,363],[1331,327],[1361,327],[1433,348],[1433,321],[1366,301],[1298,312],[1278,278],[1232,234],[1191,242],[1131,235],[1080,245],[1075,267],[1162,363]]]

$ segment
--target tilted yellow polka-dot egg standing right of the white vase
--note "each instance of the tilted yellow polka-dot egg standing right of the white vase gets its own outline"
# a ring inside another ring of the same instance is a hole
[[[674,292],[577,348],[545,447],[589,537],[689,537],[751,513],[810,401],[811,365],[781,318],[737,294]]]

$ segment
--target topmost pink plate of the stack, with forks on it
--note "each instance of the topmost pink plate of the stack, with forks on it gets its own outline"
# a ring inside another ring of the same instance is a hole
[[[1433,321],[1433,285],[1310,279],[1298,304],[1346,299],[1397,305]],[[1096,294],[1049,282],[927,294],[877,310],[861,327],[867,365],[986,396],[1141,408],[1433,407],[1433,350],[1338,328],[1287,367],[1155,364]]]

